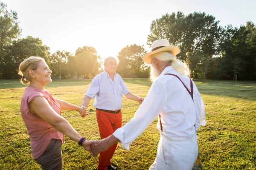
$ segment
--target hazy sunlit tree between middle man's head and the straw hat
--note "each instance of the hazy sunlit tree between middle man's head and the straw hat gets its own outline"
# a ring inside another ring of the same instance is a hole
[[[123,77],[137,76],[141,77],[143,65],[143,56],[147,53],[143,46],[140,45],[130,45],[122,48],[118,54],[119,65],[117,71]],[[145,66],[144,66],[145,67]]]

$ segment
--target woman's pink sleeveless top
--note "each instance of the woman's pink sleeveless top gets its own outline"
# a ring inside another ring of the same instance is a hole
[[[48,122],[44,121],[40,117],[30,113],[29,102],[37,96],[43,96],[47,99],[53,110],[61,115],[60,105],[48,91],[40,90],[31,86],[28,86],[25,89],[20,103],[20,112],[26,125],[27,132],[29,133],[31,152],[34,159],[37,159],[42,155],[42,153],[44,153],[44,150],[47,148],[52,138],[61,139],[62,144],[64,143],[63,133],[55,130]]]

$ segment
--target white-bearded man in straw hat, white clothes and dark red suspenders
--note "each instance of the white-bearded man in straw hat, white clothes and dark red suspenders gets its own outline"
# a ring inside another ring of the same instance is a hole
[[[179,48],[168,40],[156,40],[144,62],[151,64],[153,82],[134,118],[111,136],[95,142],[98,154],[120,142],[129,149],[148,125],[158,117],[160,141],[150,170],[191,170],[198,156],[196,130],[205,125],[204,102],[195,83],[188,77],[188,66],[176,58]]]

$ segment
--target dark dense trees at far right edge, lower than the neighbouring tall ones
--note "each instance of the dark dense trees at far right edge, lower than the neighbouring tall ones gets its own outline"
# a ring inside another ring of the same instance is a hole
[[[256,26],[251,21],[246,26],[224,30],[221,42],[221,59],[218,61],[216,77],[220,79],[256,79]]]

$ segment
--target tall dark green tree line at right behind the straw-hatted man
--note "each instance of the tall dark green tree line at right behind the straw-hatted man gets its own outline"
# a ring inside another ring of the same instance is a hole
[[[182,12],[163,15],[151,24],[148,45],[157,39],[167,39],[181,52],[191,77],[202,79],[256,80],[256,26],[234,28],[218,25],[212,15]]]

